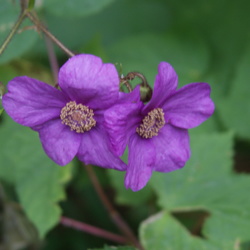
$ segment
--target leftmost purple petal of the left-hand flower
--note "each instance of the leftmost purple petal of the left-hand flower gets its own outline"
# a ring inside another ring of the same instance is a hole
[[[60,116],[67,98],[58,89],[27,76],[8,83],[3,107],[17,123],[34,127]]]

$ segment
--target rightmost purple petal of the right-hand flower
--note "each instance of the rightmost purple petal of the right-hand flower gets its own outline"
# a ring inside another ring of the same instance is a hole
[[[163,105],[165,120],[180,128],[193,128],[214,112],[207,83],[192,83],[176,91]]]

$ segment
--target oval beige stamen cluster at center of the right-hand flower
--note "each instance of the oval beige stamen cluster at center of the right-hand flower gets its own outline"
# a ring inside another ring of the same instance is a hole
[[[152,138],[158,135],[159,130],[164,126],[164,113],[161,108],[153,109],[142,120],[136,132],[142,138]]]

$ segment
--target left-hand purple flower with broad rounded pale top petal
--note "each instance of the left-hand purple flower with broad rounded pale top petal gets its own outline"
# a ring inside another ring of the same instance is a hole
[[[8,84],[3,106],[14,121],[39,133],[45,152],[59,165],[77,156],[86,164],[125,170],[111,153],[103,126],[104,111],[120,95],[115,66],[93,55],[77,55],[61,67],[58,83],[61,90],[16,77]]]

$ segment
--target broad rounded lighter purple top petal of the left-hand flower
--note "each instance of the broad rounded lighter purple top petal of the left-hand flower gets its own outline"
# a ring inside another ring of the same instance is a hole
[[[119,76],[113,64],[99,57],[81,54],[70,58],[60,69],[61,89],[77,103],[104,109],[116,102]]]

